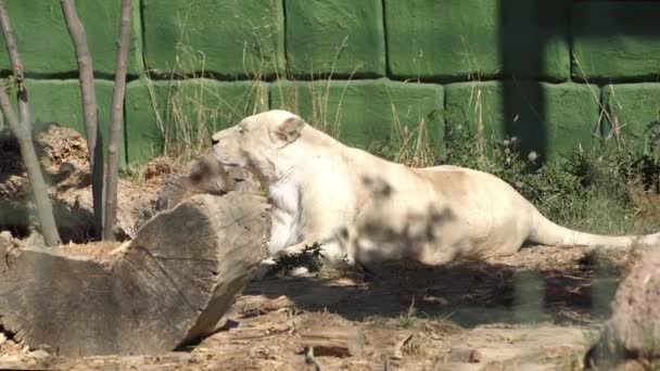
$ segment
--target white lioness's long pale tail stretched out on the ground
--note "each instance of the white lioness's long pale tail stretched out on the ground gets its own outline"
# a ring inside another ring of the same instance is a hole
[[[588,245],[607,247],[659,246],[660,232],[646,235],[604,235],[574,231],[554,223],[535,210],[529,241],[541,245]]]

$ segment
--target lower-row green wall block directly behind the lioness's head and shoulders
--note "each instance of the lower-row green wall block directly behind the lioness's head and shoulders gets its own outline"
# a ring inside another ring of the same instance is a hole
[[[363,149],[392,143],[395,124],[415,132],[423,120],[431,143],[442,152],[443,87],[431,84],[279,81],[270,86],[270,107],[300,114],[317,128]]]

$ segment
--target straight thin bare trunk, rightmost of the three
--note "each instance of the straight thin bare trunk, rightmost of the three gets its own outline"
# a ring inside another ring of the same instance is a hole
[[[126,90],[126,60],[128,59],[130,35],[130,2],[122,0],[119,18],[119,46],[117,48],[117,68],[112,92],[112,115],[107,142],[107,172],[105,176],[105,221],[104,239],[114,240],[115,219],[117,214],[117,178],[119,167],[119,139],[124,114],[124,92]]]

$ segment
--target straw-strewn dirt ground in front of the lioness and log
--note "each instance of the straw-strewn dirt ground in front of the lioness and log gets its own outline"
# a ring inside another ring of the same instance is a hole
[[[403,264],[254,281],[221,328],[157,356],[63,358],[0,335],[0,369],[314,370],[301,332],[357,328],[358,356],[321,370],[572,370],[595,342],[633,253],[530,247],[446,267]]]

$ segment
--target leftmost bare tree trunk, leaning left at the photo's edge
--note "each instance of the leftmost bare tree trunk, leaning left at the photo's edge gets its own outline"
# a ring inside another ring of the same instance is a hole
[[[3,0],[0,0],[0,27],[2,28],[2,35],[4,36],[4,44],[12,64],[14,78],[16,79],[16,95],[18,98],[21,120],[18,120],[18,117],[16,117],[16,114],[12,108],[4,86],[0,89],[0,107],[7,118],[10,129],[18,140],[21,156],[23,157],[34,192],[37,217],[39,219],[41,233],[43,234],[43,241],[48,246],[55,246],[60,243],[60,234],[58,233],[58,226],[55,225],[55,218],[53,217],[53,208],[50,199],[48,197],[46,181],[43,180],[43,174],[41,174],[41,167],[33,142],[33,124],[29,118],[29,108],[27,105],[27,90],[25,89],[24,84],[25,75],[23,73],[23,63],[21,62],[21,56],[18,54],[18,49],[16,48],[16,41],[9,22],[9,16],[7,15]]]

